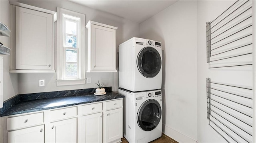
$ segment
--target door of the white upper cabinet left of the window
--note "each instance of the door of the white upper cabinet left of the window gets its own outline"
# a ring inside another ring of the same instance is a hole
[[[52,69],[52,14],[16,6],[16,69]]]

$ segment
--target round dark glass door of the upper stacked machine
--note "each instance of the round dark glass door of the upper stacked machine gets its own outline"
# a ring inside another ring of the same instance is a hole
[[[147,78],[156,76],[160,71],[161,66],[161,56],[156,49],[145,47],[138,54],[137,67],[143,76]]]

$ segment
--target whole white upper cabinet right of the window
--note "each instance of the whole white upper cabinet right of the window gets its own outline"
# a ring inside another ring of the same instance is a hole
[[[117,27],[89,21],[87,72],[117,72],[116,29]]]

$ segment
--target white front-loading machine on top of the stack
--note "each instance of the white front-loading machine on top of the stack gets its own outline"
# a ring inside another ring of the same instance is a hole
[[[133,92],[161,89],[161,42],[133,37],[119,45],[119,87]]]

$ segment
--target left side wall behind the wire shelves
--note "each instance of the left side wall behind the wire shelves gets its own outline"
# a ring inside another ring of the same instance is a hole
[[[8,0],[0,0],[0,22],[10,27],[10,4]],[[10,37],[0,36],[0,42],[4,46],[10,48]],[[3,70],[3,100],[7,100],[18,94],[18,74],[9,74],[9,55],[1,55],[4,57]]]

